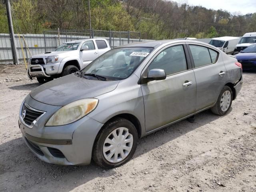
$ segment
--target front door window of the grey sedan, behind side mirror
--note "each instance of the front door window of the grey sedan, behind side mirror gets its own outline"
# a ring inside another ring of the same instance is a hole
[[[163,50],[151,62],[148,69],[163,69],[166,75],[187,70],[187,62],[183,46],[177,45]]]

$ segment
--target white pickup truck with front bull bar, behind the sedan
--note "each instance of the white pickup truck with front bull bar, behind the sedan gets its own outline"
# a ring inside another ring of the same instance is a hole
[[[110,50],[106,39],[84,39],[66,42],[54,52],[34,55],[29,59],[28,77],[39,83],[74,73]]]

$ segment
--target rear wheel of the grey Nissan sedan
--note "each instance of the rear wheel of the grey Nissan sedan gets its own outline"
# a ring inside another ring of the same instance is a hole
[[[216,115],[224,115],[232,105],[233,93],[229,86],[224,86],[220,92],[216,104],[211,108]]]

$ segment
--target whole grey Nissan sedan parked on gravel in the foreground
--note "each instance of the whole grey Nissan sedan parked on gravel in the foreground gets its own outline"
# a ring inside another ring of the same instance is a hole
[[[143,136],[209,108],[226,114],[242,83],[242,65],[209,44],[128,44],[34,89],[20,107],[19,127],[45,162],[93,159],[111,168],[130,160]]]

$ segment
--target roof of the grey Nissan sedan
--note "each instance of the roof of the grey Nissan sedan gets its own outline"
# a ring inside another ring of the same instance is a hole
[[[191,42],[191,43],[199,43],[199,44],[204,44],[209,46],[208,43],[204,43],[201,41],[196,41],[196,40],[181,40],[181,39],[171,39],[171,40],[156,40],[156,41],[142,41],[142,42],[136,42],[136,43],[132,43],[132,44],[125,44],[122,46],[119,46],[118,48],[122,48],[122,47],[160,47],[163,45],[167,45],[167,44],[172,44],[172,43],[184,43],[184,42]]]

